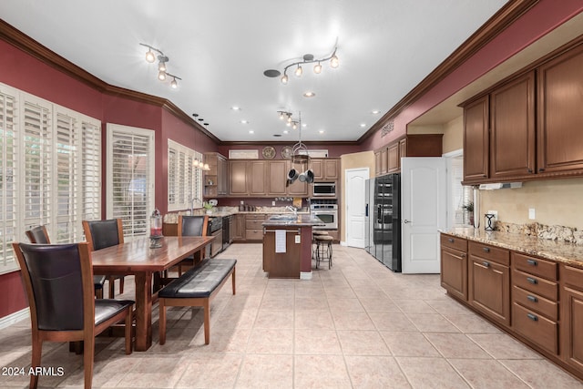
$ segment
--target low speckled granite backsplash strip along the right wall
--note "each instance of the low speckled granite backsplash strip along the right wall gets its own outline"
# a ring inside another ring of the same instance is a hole
[[[548,226],[537,222],[527,224],[496,221],[495,230],[534,236],[549,241],[566,241],[583,246],[583,230],[565,226]]]

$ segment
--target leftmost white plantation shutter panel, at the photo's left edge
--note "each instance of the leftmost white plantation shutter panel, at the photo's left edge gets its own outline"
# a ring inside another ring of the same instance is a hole
[[[18,137],[15,126],[15,93],[0,89],[0,273],[18,268],[12,241],[16,241],[18,197],[15,164]]]

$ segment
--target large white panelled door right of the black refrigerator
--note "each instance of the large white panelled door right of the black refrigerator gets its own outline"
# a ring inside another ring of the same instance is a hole
[[[446,226],[445,159],[401,159],[402,269],[439,273],[439,232]]]

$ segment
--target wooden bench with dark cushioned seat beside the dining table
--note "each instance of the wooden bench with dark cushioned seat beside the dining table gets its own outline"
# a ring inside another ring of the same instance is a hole
[[[183,273],[158,292],[159,343],[166,343],[166,307],[202,307],[204,309],[204,343],[210,343],[210,302],[232,274],[235,294],[237,260],[205,259]]]

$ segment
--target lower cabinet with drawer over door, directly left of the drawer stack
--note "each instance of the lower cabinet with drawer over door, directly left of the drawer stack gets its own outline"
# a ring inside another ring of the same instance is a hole
[[[510,252],[468,243],[468,302],[492,320],[510,326]]]

